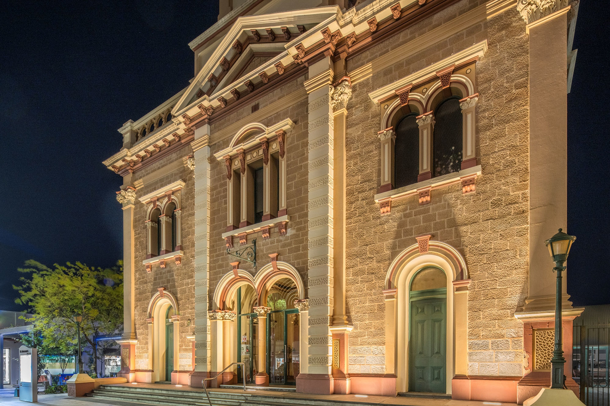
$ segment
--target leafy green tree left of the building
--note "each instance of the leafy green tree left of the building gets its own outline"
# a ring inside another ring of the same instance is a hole
[[[76,343],[75,316],[82,315],[81,339],[93,349],[97,374],[96,338],[123,329],[123,262],[113,268],[81,262],[49,268],[30,260],[25,266],[19,269],[27,274],[20,278],[22,285],[13,286],[20,294],[15,302],[30,307],[35,328],[48,347],[60,341]]]

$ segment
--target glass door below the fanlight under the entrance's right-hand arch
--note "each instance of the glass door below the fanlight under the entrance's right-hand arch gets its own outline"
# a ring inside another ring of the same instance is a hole
[[[298,309],[267,315],[267,374],[272,385],[295,385],[299,373]]]

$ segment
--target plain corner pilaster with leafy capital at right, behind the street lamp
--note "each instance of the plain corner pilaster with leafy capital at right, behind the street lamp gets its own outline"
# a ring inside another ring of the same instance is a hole
[[[549,5],[547,3],[554,3]],[[529,34],[529,295],[525,310],[554,310],[544,241],[567,223],[567,0],[520,1]],[[567,301],[563,279],[564,309]]]

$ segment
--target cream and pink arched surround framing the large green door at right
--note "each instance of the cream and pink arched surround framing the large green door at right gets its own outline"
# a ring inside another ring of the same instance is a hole
[[[397,376],[396,388],[398,392],[417,391],[411,367],[417,365],[411,363],[413,357],[410,328],[414,314],[412,313],[411,299],[417,299],[418,295],[425,293],[415,293],[420,290],[412,291],[412,282],[416,282],[415,289],[426,287],[426,278],[417,281],[414,277],[419,271],[436,268],[445,275],[444,297],[445,306],[439,309],[446,313],[445,320],[445,390],[437,388],[437,391],[451,393],[452,379],[456,374],[467,374],[467,302],[468,302],[468,270],[461,254],[446,243],[438,241],[428,241],[426,243],[416,243],[400,253],[392,262],[386,276],[386,317],[393,320],[386,329],[386,370],[395,371]],[[439,276],[439,274],[437,274]],[[441,278],[437,278],[439,284]],[[421,282],[421,283],[420,283]],[[434,285],[434,284],[432,284]],[[434,288],[442,289],[442,288]],[[421,289],[423,291],[428,289]],[[439,299],[443,296],[439,293],[437,297],[432,295],[431,299]],[[438,304],[437,304],[438,305]],[[434,306],[434,305],[431,305]],[[425,311],[423,309],[422,311]],[[434,311],[432,308],[429,312]],[[434,319],[430,320],[434,323]],[[442,335],[442,325],[439,325]],[[423,332],[423,331],[422,331]],[[428,333],[429,335],[432,332]],[[437,347],[442,350],[442,346]],[[396,362],[394,363],[394,360]],[[433,366],[433,365],[432,365]],[[436,373],[441,373],[442,369],[437,369]],[[442,387],[442,379],[437,382],[437,386]]]

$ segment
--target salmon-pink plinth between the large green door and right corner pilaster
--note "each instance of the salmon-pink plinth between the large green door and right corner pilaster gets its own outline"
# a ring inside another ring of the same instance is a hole
[[[451,380],[451,399],[517,403],[520,376],[465,376]]]

